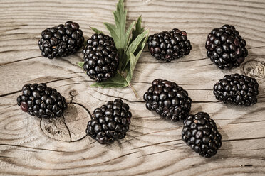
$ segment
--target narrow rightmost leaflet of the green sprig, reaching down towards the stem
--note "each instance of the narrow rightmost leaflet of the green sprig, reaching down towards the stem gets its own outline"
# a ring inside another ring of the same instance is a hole
[[[137,61],[139,60],[139,57],[140,57],[140,55],[142,53],[142,50],[145,48],[145,43],[147,42],[149,31],[145,31],[144,33],[145,33],[146,36],[145,36],[145,40],[143,40],[142,43],[140,43],[140,46],[139,46],[140,47],[140,51],[139,51],[139,53],[137,53],[136,56],[133,53],[130,53],[130,57],[129,57],[130,70],[128,70],[128,72],[127,72],[127,77],[126,77],[127,82],[130,82],[130,80],[132,79],[133,71],[135,70],[135,66],[137,64]]]

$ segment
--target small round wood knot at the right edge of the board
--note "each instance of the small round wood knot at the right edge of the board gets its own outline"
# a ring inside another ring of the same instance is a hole
[[[243,72],[245,75],[261,80],[265,77],[265,63],[258,60],[245,62]]]

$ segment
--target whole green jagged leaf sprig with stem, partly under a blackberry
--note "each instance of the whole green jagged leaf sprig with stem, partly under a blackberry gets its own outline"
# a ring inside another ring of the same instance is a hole
[[[95,82],[90,87],[130,87],[133,89],[135,96],[137,93],[131,86],[130,81],[133,77],[133,71],[137,61],[145,48],[149,31],[142,28],[142,17],[137,18],[137,21],[133,21],[126,30],[126,16],[127,10],[124,9],[123,0],[119,0],[116,11],[113,12],[115,18],[115,25],[111,23],[103,23],[105,27],[110,31],[110,35],[114,40],[115,46],[120,56],[120,63],[118,70],[114,77],[103,82]],[[135,27],[135,28],[134,28]],[[97,28],[90,27],[95,33],[103,33]],[[83,67],[83,62],[78,63],[80,67]],[[138,97],[137,97],[138,98]]]

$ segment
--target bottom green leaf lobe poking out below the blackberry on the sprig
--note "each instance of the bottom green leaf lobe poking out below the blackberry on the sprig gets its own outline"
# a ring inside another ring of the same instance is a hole
[[[120,73],[116,73],[116,75],[108,80],[105,80],[103,82],[95,82],[94,84],[90,85],[90,87],[128,87],[128,82],[126,79],[120,75]]]

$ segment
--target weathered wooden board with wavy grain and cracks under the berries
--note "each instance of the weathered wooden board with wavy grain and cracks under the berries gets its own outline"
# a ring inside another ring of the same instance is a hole
[[[142,14],[145,28],[156,33],[187,31],[192,52],[170,63],[158,62],[147,50],[133,76],[133,87],[90,88],[93,81],[76,64],[76,55],[48,60],[38,39],[43,29],[76,21],[85,38],[89,26],[107,32],[116,1],[0,1],[0,175],[265,175],[265,2],[128,0],[129,21]],[[219,70],[206,57],[204,42],[212,28],[236,26],[249,56],[241,67]],[[259,81],[258,103],[250,107],[219,103],[212,94],[218,79],[234,72]],[[145,109],[142,94],[153,79],[170,79],[187,89],[192,111],[206,111],[223,136],[216,156],[202,158],[181,140],[182,123],[163,121]],[[36,119],[16,105],[26,83],[46,82],[70,103],[61,119]],[[120,97],[133,119],[125,139],[100,145],[85,136],[89,111]]]

